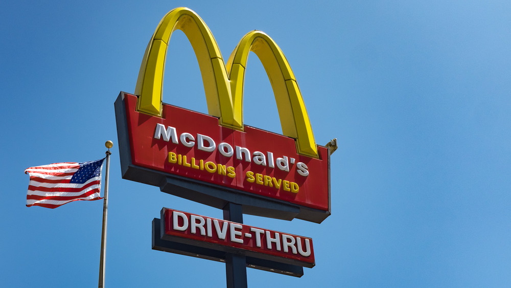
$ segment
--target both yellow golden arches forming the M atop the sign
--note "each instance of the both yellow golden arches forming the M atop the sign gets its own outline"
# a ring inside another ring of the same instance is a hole
[[[135,87],[138,111],[161,116],[162,83],[168,42],[181,30],[194,49],[204,84],[208,113],[220,125],[243,129],[243,83],[250,51],[261,60],[273,88],[282,132],[296,139],[297,151],[318,157],[309,116],[298,84],[276,43],[261,31],[246,34],[224,64],[217,42],[204,21],[188,8],[176,8],[160,21],[149,42]]]

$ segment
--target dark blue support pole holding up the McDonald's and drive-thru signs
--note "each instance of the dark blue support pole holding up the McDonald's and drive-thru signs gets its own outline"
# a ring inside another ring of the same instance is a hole
[[[243,206],[229,202],[223,208],[224,220],[243,224]],[[225,255],[225,275],[227,288],[247,288],[246,256],[227,253]]]

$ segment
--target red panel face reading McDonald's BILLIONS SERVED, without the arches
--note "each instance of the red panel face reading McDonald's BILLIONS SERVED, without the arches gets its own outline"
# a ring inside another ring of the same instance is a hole
[[[328,149],[301,156],[295,141],[245,126],[223,127],[218,118],[163,104],[161,117],[136,112],[124,94],[131,162],[194,180],[255,193],[329,213]]]

